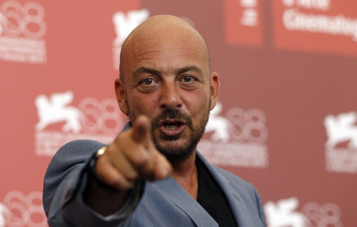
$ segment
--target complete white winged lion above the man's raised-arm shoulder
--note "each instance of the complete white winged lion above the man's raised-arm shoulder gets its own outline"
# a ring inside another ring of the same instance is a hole
[[[41,131],[49,124],[57,122],[66,122],[62,130],[64,132],[72,131],[79,133],[81,131],[80,118],[82,112],[73,106],[66,106],[73,101],[73,93],[67,91],[64,93],[54,93],[48,99],[45,95],[39,95],[35,99],[39,122],[35,129]]]

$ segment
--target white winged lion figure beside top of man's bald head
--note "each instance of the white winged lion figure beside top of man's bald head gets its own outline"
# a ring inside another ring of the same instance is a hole
[[[121,46],[124,40],[128,37],[134,28],[141,24],[149,17],[149,11],[147,9],[132,10],[127,15],[123,12],[116,12],[113,15],[113,23],[115,26],[116,39],[114,44]]]

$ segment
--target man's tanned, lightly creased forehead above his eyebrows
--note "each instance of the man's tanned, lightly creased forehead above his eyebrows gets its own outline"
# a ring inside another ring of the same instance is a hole
[[[130,75],[143,66],[158,70],[175,70],[195,65],[202,71],[207,71],[208,50],[203,38],[197,34],[187,30],[170,31],[167,28],[149,31],[145,35],[135,34],[123,50],[122,70],[126,75]]]

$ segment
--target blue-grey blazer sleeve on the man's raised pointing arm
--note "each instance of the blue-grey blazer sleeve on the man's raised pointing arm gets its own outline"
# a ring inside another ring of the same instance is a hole
[[[49,226],[121,226],[130,223],[130,214],[143,195],[145,182],[138,181],[127,203],[116,213],[102,216],[84,204],[82,193],[90,157],[103,146],[94,140],[74,140],[52,158],[44,179],[43,205]]]

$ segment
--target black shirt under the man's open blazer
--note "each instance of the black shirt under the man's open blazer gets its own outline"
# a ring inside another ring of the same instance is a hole
[[[203,163],[196,158],[198,175],[197,202],[211,215],[220,227],[237,227],[226,196],[217,186]]]

